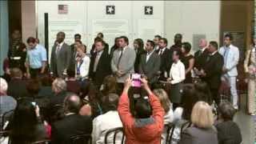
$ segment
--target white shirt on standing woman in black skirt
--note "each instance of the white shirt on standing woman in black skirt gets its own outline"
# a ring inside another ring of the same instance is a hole
[[[170,78],[171,84],[177,84],[179,82],[182,82],[185,80],[186,74],[185,74],[185,66],[184,64],[178,60],[178,62],[174,62],[170,68]]]

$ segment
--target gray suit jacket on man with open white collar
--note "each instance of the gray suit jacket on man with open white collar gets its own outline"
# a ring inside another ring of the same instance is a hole
[[[153,53],[150,55],[150,58],[146,62],[146,54],[142,54],[139,73],[145,74],[149,79],[149,82],[152,84],[158,81],[158,71],[160,70],[161,59],[158,54]]]

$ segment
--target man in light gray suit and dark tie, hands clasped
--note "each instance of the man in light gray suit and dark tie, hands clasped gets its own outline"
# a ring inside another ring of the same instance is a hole
[[[136,53],[134,49],[128,47],[128,44],[129,39],[126,36],[118,38],[119,48],[114,50],[111,60],[111,69],[117,77],[119,90],[122,90],[126,78],[134,73]]]

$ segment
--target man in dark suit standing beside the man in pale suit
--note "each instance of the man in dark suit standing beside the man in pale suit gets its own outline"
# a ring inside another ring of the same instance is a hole
[[[222,66],[224,65],[224,60],[222,55],[218,53],[217,42],[210,42],[208,50],[210,55],[206,60],[206,65],[202,67],[200,73],[202,80],[207,82],[210,87],[210,92],[214,101],[219,104],[220,99],[218,98],[218,89],[221,85]]]

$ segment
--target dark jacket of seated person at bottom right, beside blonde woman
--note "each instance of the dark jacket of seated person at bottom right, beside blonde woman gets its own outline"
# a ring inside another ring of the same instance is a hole
[[[238,125],[233,121],[221,122],[216,125],[219,144],[240,144],[242,135]]]

